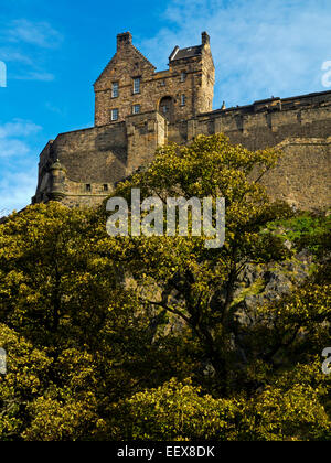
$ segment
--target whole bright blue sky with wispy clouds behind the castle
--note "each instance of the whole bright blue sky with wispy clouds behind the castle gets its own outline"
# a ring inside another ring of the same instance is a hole
[[[30,203],[39,154],[57,133],[93,126],[93,83],[116,34],[166,69],[174,45],[206,30],[214,108],[323,91],[331,61],[330,0],[0,0],[0,212]],[[1,76],[0,76],[1,83]],[[1,85],[1,84],[0,84]]]

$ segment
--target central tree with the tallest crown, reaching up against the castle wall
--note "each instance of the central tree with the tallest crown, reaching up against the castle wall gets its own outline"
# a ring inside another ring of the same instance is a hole
[[[142,200],[152,195],[164,205],[172,196],[225,198],[222,248],[207,249],[204,237],[193,236],[117,237],[104,243],[105,255],[121,261],[141,289],[141,303],[182,319],[222,380],[232,369],[228,353],[239,348],[232,308],[241,272],[247,263],[281,260],[289,254],[281,239],[261,233],[270,219],[291,215],[285,204],[271,203],[260,184],[278,155],[275,150],[233,147],[223,134],[199,136],[189,147],[161,148],[149,169],[114,194],[130,203],[131,189],[140,187]]]

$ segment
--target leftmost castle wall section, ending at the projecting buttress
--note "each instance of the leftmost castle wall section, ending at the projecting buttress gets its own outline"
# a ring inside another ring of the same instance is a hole
[[[126,176],[126,123],[61,133],[40,158],[39,183],[33,203],[53,200],[52,164],[65,169],[61,201],[68,206],[95,206],[110,194],[114,182]]]

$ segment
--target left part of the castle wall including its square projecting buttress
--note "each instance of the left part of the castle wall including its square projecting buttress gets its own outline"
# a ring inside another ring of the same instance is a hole
[[[131,115],[126,122],[61,133],[41,153],[32,202],[55,198],[71,206],[97,205],[109,196],[118,181],[151,162],[166,137],[167,121],[157,111]],[[57,181],[54,192],[56,161],[64,172],[61,198]]]

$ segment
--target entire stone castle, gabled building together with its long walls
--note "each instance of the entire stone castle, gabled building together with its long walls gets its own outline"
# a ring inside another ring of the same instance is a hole
[[[249,150],[279,147],[284,157],[264,179],[274,197],[324,208],[331,191],[331,91],[270,98],[212,110],[215,68],[210,37],[174,47],[169,69],[156,67],[117,35],[117,51],[96,83],[95,127],[61,133],[40,155],[32,203],[95,206],[116,183],[150,163],[156,148],[224,132]]]

